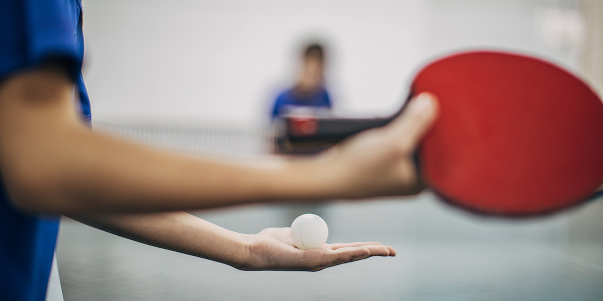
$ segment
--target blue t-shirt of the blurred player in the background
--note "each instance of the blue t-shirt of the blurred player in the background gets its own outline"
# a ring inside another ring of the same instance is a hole
[[[314,92],[300,93],[295,88],[290,88],[280,95],[274,101],[272,118],[285,114],[287,107],[322,107],[331,108],[329,93],[324,87],[318,88]]]

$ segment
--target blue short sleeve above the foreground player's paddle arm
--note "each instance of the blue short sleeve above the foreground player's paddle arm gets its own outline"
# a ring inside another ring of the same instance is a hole
[[[0,0],[0,7],[0,80],[59,60],[77,81],[84,56],[79,2]]]

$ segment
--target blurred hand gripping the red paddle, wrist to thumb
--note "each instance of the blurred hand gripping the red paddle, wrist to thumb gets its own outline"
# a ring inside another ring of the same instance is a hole
[[[390,124],[346,140],[324,155],[323,164],[335,171],[333,189],[350,198],[417,194],[424,187],[413,155],[434,123],[437,99],[421,93]]]

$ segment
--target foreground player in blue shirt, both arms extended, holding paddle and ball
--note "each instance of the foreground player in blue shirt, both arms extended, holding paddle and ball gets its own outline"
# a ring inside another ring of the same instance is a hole
[[[417,193],[412,154],[437,116],[433,96],[336,153],[261,164],[186,157],[92,131],[80,0],[0,7],[0,300],[45,298],[61,214],[240,270],[317,271],[395,255],[379,243],[300,250],[288,228],[240,234],[181,210]]]

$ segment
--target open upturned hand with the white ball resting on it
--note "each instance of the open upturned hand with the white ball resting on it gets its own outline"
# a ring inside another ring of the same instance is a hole
[[[370,256],[396,256],[396,250],[380,243],[324,244],[309,250],[297,249],[289,228],[268,228],[251,235],[247,264],[240,270],[320,271],[323,268]]]

